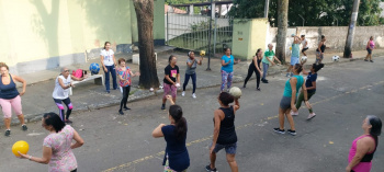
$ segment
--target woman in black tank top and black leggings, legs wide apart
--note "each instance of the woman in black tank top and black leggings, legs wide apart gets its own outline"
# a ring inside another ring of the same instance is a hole
[[[246,88],[248,80],[250,79],[250,77],[252,77],[252,73],[256,73],[256,83],[257,83],[257,91],[260,91],[260,76],[262,74],[261,69],[260,69],[260,62],[262,59],[262,49],[259,48],[258,51],[256,53],[256,56],[253,56],[252,58],[252,62],[249,65],[248,68],[248,74],[246,80],[244,81],[244,87]],[[257,65],[255,65],[255,62],[257,62]]]

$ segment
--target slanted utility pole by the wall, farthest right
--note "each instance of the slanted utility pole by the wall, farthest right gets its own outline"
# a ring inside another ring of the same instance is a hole
[[[349,58],[351,56],[353,37],[354,37],[354,28],[355,28],[358,13],[359,13],[359,4],[360,4],[360,0],[354,0],[352,14],[351,14],[351,22],[348,27],[348,35],[346,41],[345,54],[343,54],[345,58]]]

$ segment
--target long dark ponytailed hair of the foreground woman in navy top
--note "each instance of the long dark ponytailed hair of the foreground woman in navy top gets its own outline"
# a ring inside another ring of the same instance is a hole
[[[182,116],[182,108],[179,105],[171,105],[169,107],[169,115],[174,119],[174,135],[179,140],[185,139],[187,137],[187,121]]]

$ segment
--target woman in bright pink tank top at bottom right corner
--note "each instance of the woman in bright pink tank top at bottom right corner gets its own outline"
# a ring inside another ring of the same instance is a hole
[[[370,172],[373,153],[377,148],[377,136],[382,133],[382,121],[368,115],[363,121],[364,135],[355,138],[349,150],[347,172]]]

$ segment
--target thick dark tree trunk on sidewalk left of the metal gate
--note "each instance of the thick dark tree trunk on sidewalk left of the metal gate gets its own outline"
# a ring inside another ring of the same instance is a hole
[[[134,0],[137,28],[138,48],[140,56],[139,85],[145,89],[158,88],[155,48],[154,48],[154,0]]]

